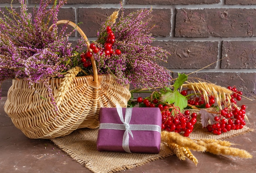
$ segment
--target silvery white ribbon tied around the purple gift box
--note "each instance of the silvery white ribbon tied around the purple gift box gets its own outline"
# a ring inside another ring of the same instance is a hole
[[[100,123],[99,129],[114,129],[114,130],[125,130],[123,136],[122,147],[127,153],[131,153],[129,148],[129,134],[132,136],[132,130],[136,131],[158,131],[161,133],[161,127],[159,125],[141,125],[141,124],[129,124],[132,117],[132,108],[126,108],[125,117],[123,117],[123,111],[121,107],[117,107],[117,113],[123,124],[115,123]]]

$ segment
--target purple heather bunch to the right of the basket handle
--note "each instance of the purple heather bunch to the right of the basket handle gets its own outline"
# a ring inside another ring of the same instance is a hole
[[[106,58],[104,52],[94,54],[100,74],[114,74],[116,80],[135,87],[155,88],[168,86],[171,81],[169,71],[157,64],[157,61],[166,61],[166,50],[152,46],[154,38],[150,31],[155,26],[149,26],[151,18],[147,18],[152,9],[141,9],[124,15],[121,8],[119,21],[111,23],[111,18],[102,24],[97,33],[97,43],[104,45],[108,33],[106,27],[111,26],[115,34],[113,49],[121,50],[121,55],[112,55]]]

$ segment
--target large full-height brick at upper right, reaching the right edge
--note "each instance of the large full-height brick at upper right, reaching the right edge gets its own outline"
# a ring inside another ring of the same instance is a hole
[[[176,37],[252,37],[256,9],[177,9]]]

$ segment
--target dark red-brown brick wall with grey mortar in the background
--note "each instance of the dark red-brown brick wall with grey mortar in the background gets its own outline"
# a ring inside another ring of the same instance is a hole
[[[59,19],[83,22],[81,28],[93,40],[101,22],[119,8],[119,1],[69,0]],[[0,0],[0,7],[9,2]],[[27,0],[31,8],[38,2]],[[153,7],[152,24],[158,25],[153,44],[172,53],[168,64],[162,65],[174,76],[218,61],[189,76],[225,87],[236,85],[246,96],[256,97],[256,0],[123,0],[123,6],[126,11]],[[9,85],[10,81],[4,84],[3,94]]]

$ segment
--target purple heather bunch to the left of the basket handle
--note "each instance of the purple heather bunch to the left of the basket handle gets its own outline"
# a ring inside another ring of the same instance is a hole
[[[0,9],[0,82],[26,79],[29,86],[43,82],[53,100],[47,81],[78,65],[85,43],[80,40],[72,46],[69,36],[74,30],[66,33],[67,24],[62,29],[56,25],[58,11],[67,0],[54,0],[52,5],[52,0],[40,0],[33,13],[28,12],[25,0],[19,2],[19,12],[12,5]]]

